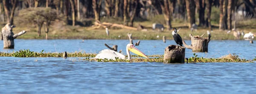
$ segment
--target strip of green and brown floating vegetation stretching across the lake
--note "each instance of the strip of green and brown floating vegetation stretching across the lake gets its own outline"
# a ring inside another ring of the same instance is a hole
[[[44,53],[44,50],[41,52],[33,52],[30,50],[20,50],[13,53],[0,53],[0,56],[5,57],[62,57],[63,53]],[[131,55],[133,59],[131,61],[129,60],[122,60],[119,58],[116,58],[116,60],[108,60],[108,59],[97,59],[92,60],[91,58],[95,57],[95,53],[82,53],[80,52],[74,52],[74,53],[67,53],[67,57],[85,57],[79,60],[85,60],[85,61],[100,61],[100,62],[163,62],[163,55],[148,55],[150,58],[141,58],[138,55]],[[253,62],[256,60],[254,58],[253,60],[246,60],[246,59],[240,59],[238,55],[225,55],[221,58],[198,58],[198,55],[194,54],[194,57],[188,58],[189,63],[195,63],[195,62]],[[185,60],[186,62],[186,60]]]

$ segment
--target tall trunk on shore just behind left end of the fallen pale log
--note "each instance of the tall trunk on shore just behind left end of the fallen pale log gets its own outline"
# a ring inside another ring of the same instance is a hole
[[[93,0],[93,12],[94,12],[94,17],[95,21],[100,21],[100,11],[101,11],[101,4],[102,0]]]

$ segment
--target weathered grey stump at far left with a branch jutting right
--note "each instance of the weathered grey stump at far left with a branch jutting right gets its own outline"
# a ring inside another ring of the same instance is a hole
[[[15,28],[15,25],[11,25],[10,23],[6,24],[5,27],[2,28],[4,49],[14,49],[14,39],[26,33],[26,31],[23,30],[20,33],[14,34],[12,32],[12,28]]]

